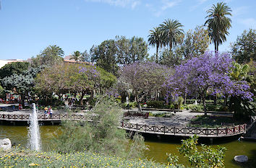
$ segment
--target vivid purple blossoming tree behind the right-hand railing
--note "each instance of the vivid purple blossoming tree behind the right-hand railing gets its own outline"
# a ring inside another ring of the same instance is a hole
[[[222,93],[242,96],[243,99],[252,99],[247,81],[232,81],[229,70],[232,59],[228,53],[205,53],[200,57],[192,58],[186,63],[176,66],[174,76],[170,76],[166,83],[169,93],[176,96],[181,94],[199,94],[202,98],[205,115],[206,93]]]

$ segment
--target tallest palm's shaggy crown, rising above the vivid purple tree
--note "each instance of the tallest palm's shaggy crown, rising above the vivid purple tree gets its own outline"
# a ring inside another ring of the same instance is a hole
[[[226,35],[229,35],[229,28],[231,27],[231,19],[226,17],[227,15],[232,16],[230,13],[232,10],[226,3],[217,3],[208,9],[208,18],[205,21],[205,25],[208,25],[208,33],[210,39],[214,43],[215,51],[218,52],[218,45],[221,45],[226,41]]]

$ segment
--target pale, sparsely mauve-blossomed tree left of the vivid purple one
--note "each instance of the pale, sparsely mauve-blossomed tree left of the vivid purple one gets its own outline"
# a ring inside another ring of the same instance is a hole
[[[158,63],[126,64],[119,71],[119,81],[123,82],[127,89],[131,89],[135,94],[138,108],[141,111],[140,102],[143,97],[153,92],[159,92],[170,72],[170,68]]]

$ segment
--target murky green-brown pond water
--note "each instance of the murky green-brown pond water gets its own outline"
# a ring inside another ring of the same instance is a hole
[[[40,136],[42,141],[43,149],[48,149],[48,143],[51,139],[51,135],[59,126],[57,125],[43,125],[40,126]],[[10,126],[10,125],[0,125],[0,138],[9,138],[12,143],[21,146],[27,145],[27,126]],[[175,142],[163,142],[160,140],[148,140],[145,141],[148,145],[148,151],[145,152],[145,156],[148,159],[153,159],[155,162],[166,163],[166,153],[176,154],[179,156],[179,162],[189,166],[189,162],[178,152],[178,147],[180,146],[179,141]],[[216,146],[217,144],[213,145]],[[218,145],[225,146],[226,156],[225,165],[226,167],[236,168],[236,167],[256,167],[256,142],[250,141],[230,141],[221,142]],[[247,155],[249,157],[249,162],[247,164],[236,164],[233,161],[235,155]]]

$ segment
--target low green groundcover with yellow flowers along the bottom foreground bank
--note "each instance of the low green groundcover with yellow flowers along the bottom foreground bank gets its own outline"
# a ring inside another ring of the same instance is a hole
[[[147,159],[124,159],[120,156],[97,154],[90,151],[60,154],[56,151],[36,152],[15,147],[11,151],[0,151],[0,167],[152,167],[171,168]],[[29,164],[31,166],[29,166]]]

